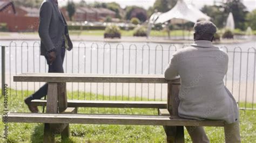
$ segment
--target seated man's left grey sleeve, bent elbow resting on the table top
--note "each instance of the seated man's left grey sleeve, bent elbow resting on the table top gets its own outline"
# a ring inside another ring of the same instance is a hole
[[[169,65],[165,69],[164,76],[167,80],[172,80],[173,78],[176,78],[176,76],[178,76],[176,55],[172,56]]]

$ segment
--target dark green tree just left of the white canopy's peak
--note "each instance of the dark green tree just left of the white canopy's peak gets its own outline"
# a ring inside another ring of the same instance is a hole
[[[167,12],[176,5],[178,0],[156,0],[153,5],[153,9],[158,12]]]

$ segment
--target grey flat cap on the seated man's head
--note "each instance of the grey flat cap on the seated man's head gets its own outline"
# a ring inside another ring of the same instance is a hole
[[[200,35],[205,33],[215,34],[217,32],[217,27],[210,21],[201,21],[194,24],[194,31]]]

